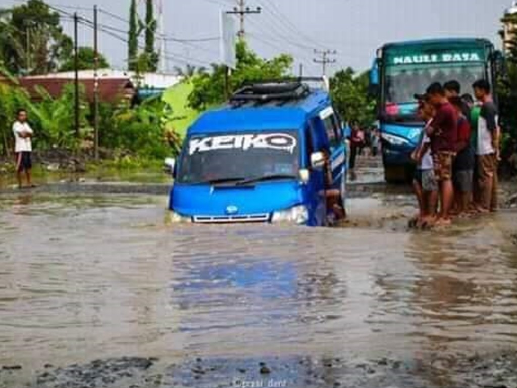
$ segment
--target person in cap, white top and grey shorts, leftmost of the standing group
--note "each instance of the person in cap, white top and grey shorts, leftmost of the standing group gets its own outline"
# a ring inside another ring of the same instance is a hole
[[[418,114],[426,123],[426,128],[431,125],[435,115],[435,109],[429,102],[429,96],[415,96],[418,100]],[[434,176],[433,157],[431,155],[431,140],[426,130],[422,131],[419,144],[411,155],[417,163],[417,170],[413,187],[420,208],[418,216],[411,222],[421,228],[430,226],[436,219],[436,206],[438,202],[438,183]]]

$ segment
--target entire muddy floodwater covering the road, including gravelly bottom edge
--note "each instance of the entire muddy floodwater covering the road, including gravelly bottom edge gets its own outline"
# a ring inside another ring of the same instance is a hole
[[[517,213],[410,231],[364,175],[335,229],[0,196],[0,387],[517,387]]]

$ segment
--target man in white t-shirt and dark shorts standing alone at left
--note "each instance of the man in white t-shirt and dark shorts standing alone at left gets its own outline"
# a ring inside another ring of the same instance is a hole
[[[18,111],[17,120],[12,125],[12,133],[14,135],[18,187],[22,188],[23,172],[25,172],[28,187],[34,187],[31,181],[33,130],[27,123],[27,111],[24,109]]]

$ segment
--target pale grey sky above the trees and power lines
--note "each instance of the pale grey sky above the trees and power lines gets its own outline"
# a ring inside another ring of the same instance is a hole
[[[49,4],[93,18],[87,7],[94,4],[121,19],[128,19],[129,0],[47,0]],[[336,49],[337,63],[329,71],[352,66],[364,70],[371,64],[375,49],[388,41],[434,37],[481,37],[500,46],[497,32],[500,18],[511,0],[246,0],[250,7],[261,6],[262,14],[246,19],[251,47],[262,56],[288,52],[295,68],[303,63],[306,74],[319,75],[312,63],[313,49]],[[0,0],[0,7],[21,0]],[[144,2],[141,0],[141,3]],[[215,38],[219,35],[219,12],[231,9],[237,0],[163,0],[165,35],[177,39]],[[144,17],[144,10],[141,10]],[[100,23],[127,31],[128,25],[108,14]],[[66,31],[72,25],[64,22]],[[126,39],[127,34],[112,30]],[[80,28],[80,44],[91,44],[92,30]],[[124,68],[127,46],[102,33],[100,49],[116,68]],[[183,65],[186,58],[197,65],[218,61],[218,42],[176,43],[169,41],[168,67]],[[181,59],[174,59],[177,55]],[[297,70],[296,70],[297,71]]]

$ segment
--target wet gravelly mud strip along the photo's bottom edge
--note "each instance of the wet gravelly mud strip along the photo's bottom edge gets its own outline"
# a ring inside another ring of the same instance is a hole
[[[95,360],[39,372],[34,385],[40,388],[325,388],[367,386],[372,388],[517,386],[515,352],[474,355],[463,360],[381,358],[354,362],[340,358],[310,356],[260,359],[211,358],[162,365],[158,359],[122,357]],[[4,373],[5,370],[4,370]],[[12,375],[12,372],[7,372]]]

